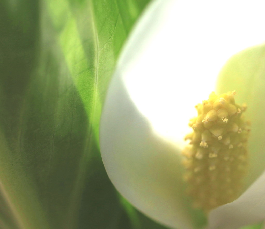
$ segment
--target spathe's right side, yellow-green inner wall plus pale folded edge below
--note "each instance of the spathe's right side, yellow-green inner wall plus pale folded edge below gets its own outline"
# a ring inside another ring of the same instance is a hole
[[[251,121],[250,171],[244,188],[246,191],[236,201],[211,212],[211,229],[239,228],[265,219],[264,63],[265,45],[260,45],[233,56],[220,73],[218,91],[236,90],[237,101],[248,105],[246,116]]]

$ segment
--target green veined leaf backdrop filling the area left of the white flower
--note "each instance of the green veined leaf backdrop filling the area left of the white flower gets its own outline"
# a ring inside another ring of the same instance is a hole
[[[132,227],[102,164],[98,126],[148,2],[1,1],[1,228]]]

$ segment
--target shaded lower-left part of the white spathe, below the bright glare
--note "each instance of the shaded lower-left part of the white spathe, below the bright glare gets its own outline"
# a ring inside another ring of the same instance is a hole
[[[192,228],[179,152],[153,133],[118,73],[105,102],[100,148],[109,178],[135,207],[172,228]]]

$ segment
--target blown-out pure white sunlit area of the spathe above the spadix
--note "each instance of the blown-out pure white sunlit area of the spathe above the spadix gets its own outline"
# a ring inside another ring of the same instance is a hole
[[[139,28],[134,31],[145,45],[134,44],[138,53],[123,79],[159,134],[182,145],[183,136],[190,132],[189,119],[196,115],[194,106],[214,91],[224,63],[264,42],[260,2],[167,1],[148,31],[150,37]]]

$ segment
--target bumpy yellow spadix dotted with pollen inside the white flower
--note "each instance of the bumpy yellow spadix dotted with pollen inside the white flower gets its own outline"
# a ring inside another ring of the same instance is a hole
[[[206,212],[235,200],[248,170],[249,122],[242,113],[246,105],[235,103],[235,91],[217,96],[195,108],[198,117],[190,120],[193,132],[184,149],[185,181],[194,207]]]

